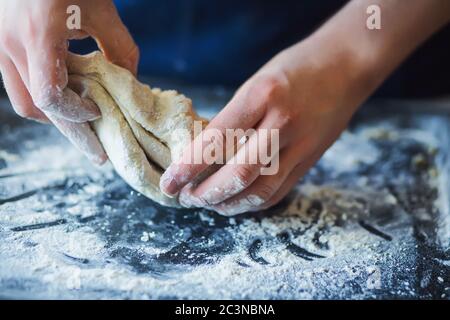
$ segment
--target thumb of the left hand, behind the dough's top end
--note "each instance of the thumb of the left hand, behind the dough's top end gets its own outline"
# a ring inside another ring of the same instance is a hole
[[[112,3],[105,3],[101,15],[90,17],[87,32],[94,37],[98,46],[112,63],[137,73],[139,49],[131,34],[120,19]]]

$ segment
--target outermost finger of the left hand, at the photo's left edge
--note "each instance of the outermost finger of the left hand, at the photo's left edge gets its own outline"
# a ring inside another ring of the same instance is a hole
[[[6,57],[0,58],[0,65],[3,84],[16,113],[27,119],[48,123],[49,120],[44,113],[33,104],[28,90],[12,61]]]

